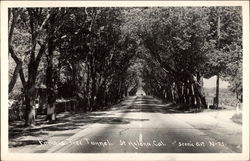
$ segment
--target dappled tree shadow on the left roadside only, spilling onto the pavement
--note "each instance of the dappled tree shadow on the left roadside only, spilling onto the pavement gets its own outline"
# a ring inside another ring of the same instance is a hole
[[[134,100],[132,100],[133,103]],[[113,110],[119,110],[129,107],[131,101],[124,102],[114,106]],[[85,125],[100,124],[129,124],[132,121],[148,121],[148,119],[132,119],[124,117],[112,117],[111,113],[106,111],[72,114],[69,112],[57,115],[55,123],[47,123],[44,115],[38,115],[35,127],[25,127],[23,121],[9,123],[9,147],[21,147],[25,145],[39,144],[36,138],[49,138],[57,136],[71,136]],[[51,134],[53,133],[53,134]],[[50,135],[50,136],[49,136]]]

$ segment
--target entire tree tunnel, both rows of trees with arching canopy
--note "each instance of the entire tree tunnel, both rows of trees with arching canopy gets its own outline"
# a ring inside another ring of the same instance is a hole
[[[206,108],[203,77],[217,75],[242,96],[240,7],[11,8],[9,93],[20,78],[26,124],[36,88],[78,100],[85,111],[136,93]]]

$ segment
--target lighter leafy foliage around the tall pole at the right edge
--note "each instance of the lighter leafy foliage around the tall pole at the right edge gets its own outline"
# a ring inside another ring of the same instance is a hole
[[[211,7],[210,48],[206,62],[206,77],[220,73],[229,81],[233,92],[242,94],[242,9],[241,7]]]

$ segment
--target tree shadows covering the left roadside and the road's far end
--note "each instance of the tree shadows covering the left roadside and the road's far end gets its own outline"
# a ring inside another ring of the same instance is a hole
[[[11,122],[9,123],[9,147],[39,144],[35,140],[36,138],[48,138],[51,135],[53,137],[71,136],[75,134],[75,130],[80,130],[85,125],[93,123],[118,125],[130,124],[133,121],[149,121],[149,119],[126,118],[126,114],[129,112],[184,113],[176,106],[170,103],[163,104],[160,100],[150,96],[125,100],[108,111],[115,111],[115,113],[122,113],[122,115],[112,116],[114,114],[107,111],[80,114],[66,112],[58,114],[56,122],[52,124],[46,123],[45,116],[40,115],[37,118],[36,126],[28,128],[23,126],[22,121]],[[22,139],[23,136],[25,139]]]

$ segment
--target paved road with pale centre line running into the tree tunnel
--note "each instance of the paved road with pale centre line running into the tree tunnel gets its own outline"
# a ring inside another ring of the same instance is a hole
[[[237,133],[238,138],[233,139],[236,135],[227,130],[227,125],[232,130],[229,124],[220,124],[220,121],[204,114],[178,113],[171,104],[162,104],[150,96],[131,97],[100,117],[100,121],[82,127],[80,132],[58,143],[48,152],[232,153],[241,151],[241,136]],[[240,126],[233,125],[233,128],[235,127],[233,131],[240,132]]]

